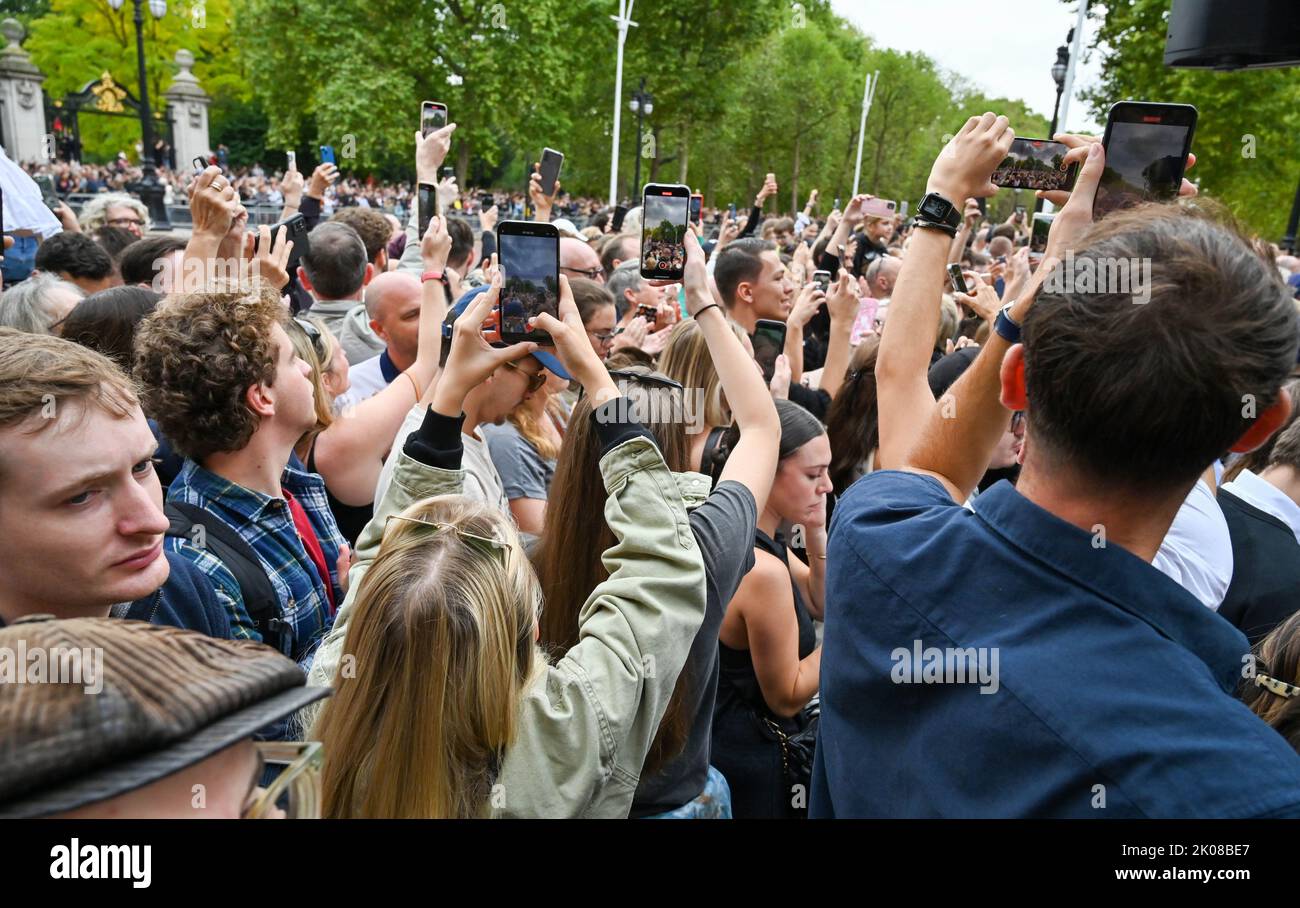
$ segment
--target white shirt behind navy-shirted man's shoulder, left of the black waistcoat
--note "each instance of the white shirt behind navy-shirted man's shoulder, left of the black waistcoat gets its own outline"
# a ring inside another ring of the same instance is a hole
[[[1223,604],[1232,583],[1232,539],[1205,480],[1187,493],[1152,565],[1210,609]]]

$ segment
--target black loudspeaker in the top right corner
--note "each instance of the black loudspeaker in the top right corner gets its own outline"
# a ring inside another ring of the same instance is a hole
[[[1264,69],[1300,64],[1296,0],[1174,0],[1165,65]]]

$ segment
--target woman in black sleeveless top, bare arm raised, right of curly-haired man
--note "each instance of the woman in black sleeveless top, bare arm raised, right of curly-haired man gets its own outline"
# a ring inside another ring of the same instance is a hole
[[[443,219],[430,219],[420,246],[424,269],[442,271],[450,250],[451,237]],[[343,412],[334,411],[334,399],[348,389],[348,362],[342,345],[317,319],[298,317],[289,323],[295,353],[312,367],[316,386],[316,425],[303,434],[294,451],[308,472],[325,480],[334,520],[354,546],[374,513],[374,487],[393,436],[437,373],[446,290],[439,281],[430,280],[424,282],[421,293],[415,363],[378,394]]]

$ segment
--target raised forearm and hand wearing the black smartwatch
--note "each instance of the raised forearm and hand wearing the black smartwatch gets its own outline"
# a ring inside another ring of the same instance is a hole
[[[942,195],[952,204],[992,195],[997,187],[989,176],[1006,156],[1013,138],[1006,117],[992,113],[971,117],[935,160],[927,191]],[[881,470],[907,466],[922,434],[923,421],[918,416],[935,408],[927,372],[939,330],[950,243],[952,237],[942,230],[918,228],[898,272],[876,356]]]

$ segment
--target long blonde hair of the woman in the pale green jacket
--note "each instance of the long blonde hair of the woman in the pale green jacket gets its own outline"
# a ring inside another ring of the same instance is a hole
[[[482,817],[545,667],[537,578],[497,509],[441,496],[400,516],[361,579],[334,696],[309,732],[325,745],[322,816]]]

